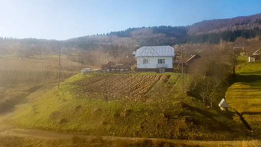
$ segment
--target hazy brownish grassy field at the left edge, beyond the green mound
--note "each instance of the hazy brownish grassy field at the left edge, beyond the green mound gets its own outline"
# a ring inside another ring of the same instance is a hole
[[[0,112],[6,111],[24,100],[24,97],[40,87],[52,88],[57,82],[59,56],[48,54],[44,57],[30,55],[20,60],[17,55],[0,55]],[[79,65],[61,57],[60,79],[64,80],[78,73]],[[41,66],[42,63],[42,66]],[[43,67],[43,82],[41,71]],[[84,67],[84,65],[80,65]],[[56,72],[57,71],[57,72]]]

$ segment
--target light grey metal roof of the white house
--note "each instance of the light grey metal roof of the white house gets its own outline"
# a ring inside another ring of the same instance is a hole
[[[174,49],[169,46],[145,46],[137,49],[135,57],[174,56]]]

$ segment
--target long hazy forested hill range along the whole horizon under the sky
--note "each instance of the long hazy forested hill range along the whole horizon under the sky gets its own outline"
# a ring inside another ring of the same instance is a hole
[[[174,46],[176,44],[206,42],[218,44],[220,39],[234,42],[237,37],[249,39],[257,36],[261,36],[261,13],[202,21],[188,26],[134,27],[107,34],[88,35],[62,41],[0,37],[0,53],[10,53],[10,49],[16,50],[15,52],[21,52],[20,50],[23,49],[38,49],[38,52],[60,51],[61,49],[102,49],[105,51],[118,50],[119,52],[119,49],[121,49],[130,52],[137,43],[140,46]],[[17,51],[17,49],[20,50]]]

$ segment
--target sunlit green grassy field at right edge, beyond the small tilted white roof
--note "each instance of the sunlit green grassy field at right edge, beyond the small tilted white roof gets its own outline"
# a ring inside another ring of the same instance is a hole
[[[248,63],[238,69],[225,97],[254,130],[250,134],[258,135],[261,132],[261,62]]]

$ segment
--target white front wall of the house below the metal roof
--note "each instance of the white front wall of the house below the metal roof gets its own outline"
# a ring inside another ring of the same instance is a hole
[[[143,59],[147,59],[148,63],[143,64]],[[137,69],[159,69],[157,68],[158,59],[165,59],[166,68],[172,69],[172,56],[165,57],[137,57]]]

